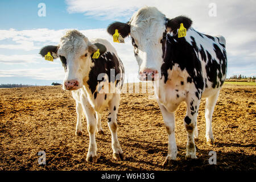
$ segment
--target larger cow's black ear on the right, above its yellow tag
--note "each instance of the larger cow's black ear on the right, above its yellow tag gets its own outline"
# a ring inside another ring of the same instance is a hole
[[[176,18],[170,19],[167,22],[167,28],[171,28],[171,31],[176,33],[177,28],[180,27],[180,23],[183,23],[183,26],[188,29],[191,27],[192,20],[186,16],[177,16]]]

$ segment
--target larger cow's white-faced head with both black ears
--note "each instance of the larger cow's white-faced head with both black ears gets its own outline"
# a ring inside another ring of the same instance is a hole
[[[139,65],[139,80],[154,81],[161,74],[166,34],[170,32],[176,36],[180,23],[189,28],[192,21],[185,16],[168,19],[155,7],[143,7],[134,13],[128,23],[110,24],[108,32],[113,35],[117,29],[123,38],[131,36],[134,55]]]

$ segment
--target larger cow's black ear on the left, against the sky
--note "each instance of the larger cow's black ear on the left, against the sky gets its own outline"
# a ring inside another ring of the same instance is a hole
[[[110,35],[114,35],[115,29],[118,30],[119,34],[121,34],[123,38],[128,36],[131,31],[131,27],[129,24],[121,23],[121,22],[114,22],[110,24],[109,27],[107,28],[107,31],[109,32]]]

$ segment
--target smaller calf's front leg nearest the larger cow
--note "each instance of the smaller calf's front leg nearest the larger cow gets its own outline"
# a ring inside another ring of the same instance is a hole
[[[115,160],[125,160],[125,155],[123,155],[123,151],[117,137],[117,113],[119,107],[119,97],[119,94],[114,94],[112,100],[109,101],[108,125],[112,137],[113,158]]]

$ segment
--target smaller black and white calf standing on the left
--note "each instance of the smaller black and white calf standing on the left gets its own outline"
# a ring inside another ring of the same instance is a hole
[[[97,49],[100,49],[100,57],[93,59]],[[101,114],[106,106],[109,106],[108,125],[112,134],[113,157],[125,159],[117,137],[117,112],[124,69],[114,47],[107,40],[89,41],[79,31],[72,30],[60,39],[58,46],[43,47],[40,54],[44,56],[47,52],[51,52],[54,58],[60,57],[65,70],[63,89],[72,90],[76,101],[76,135],[82,134],[82,113],[86,115],[90,137],[86,160],[97,162],[95,134],[96,130],[103,133]]]

